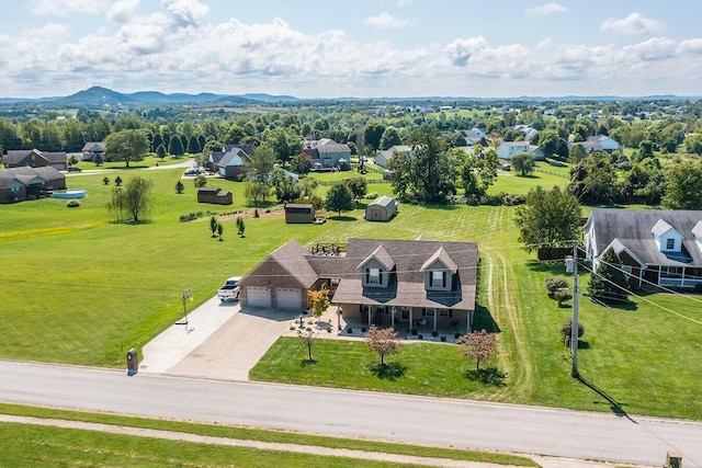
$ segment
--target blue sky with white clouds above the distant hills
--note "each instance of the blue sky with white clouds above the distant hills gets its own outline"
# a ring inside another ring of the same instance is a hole
[[[702,3],[4,0],[0,96],[702,95]]]

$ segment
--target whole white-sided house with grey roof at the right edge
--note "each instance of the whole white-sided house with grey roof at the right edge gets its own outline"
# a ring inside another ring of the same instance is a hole
[[[612,248],[633,286],[702,284],[702,212],[593,208],[584,231],[596,272]]]

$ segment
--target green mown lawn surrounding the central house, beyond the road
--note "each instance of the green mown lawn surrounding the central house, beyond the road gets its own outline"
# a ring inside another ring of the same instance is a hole
[[[126,179],[129,172],[121,170],[109,176],[113,180],[118,173]],[[546,275],[563,272],[563,263],[539,262],[521,249],[513,207],[404,204],[389,224],[364,222],[358,209],[341,219],[331,216],[321,226],[285,225],[280,217],[264,215],[246,219],[245,238],[236,236],[234,220],[225,221],[225,240],[218,242],[210,237],[207,217],[183,224],[178,218],[197,210],[245,209],[244,184],[213,180],[210,185],[234,193],[235,205],[199,205],[189,181],[185,193],[176,194],[181,170],[139,173],[155,182],[156,206],[147,224],[110,222],[105,203],[112,186],[102,184],[104,174],[68,179],[69,187],[88,190],[79,208],[67,208],[56,199],[0,206],[0,262],[4,266],[0,279],[5,285],[0,293],[2,357],[122,366],[126,350],[140,349],[182,316],[183,289],[192,287],[195,301],[189,307],[195,307],[212,297],[225,277],[246,273],[291,238],[312,244],[344,242],[349,237],[414,239],[423,235],[479,243],[478,305],[485,323],[494,321],[500,331],[500,354],[489,365],[506,374],[503,385],[483,386],[467,379],[469,363],[456,361],[453,353],[454,357],[444,355],[451,347],[446,345],[424,345],[426,354],[433,357],[426,364],[409,354],[393,357],[407,366],[394,381],[366,376],[358,379],[359,385],[384,391],[702,420],[698,398],[702,384],[700,298],[655,294],[635,299],[626,309],[604,309],[581,300],[586,333],[579,364],[589,385],[573,379],[568,353],[558,335],[570,309],[558,308],[543,286]],[[508,183],[512,179],[520,183]],[[520,193],[522,179],[498,179],[505,183],[500,191]],[[541,173],[534,180],[544,186],[566,182]],[[389,190],[389,184],[377,186]],[[584,276],[581,286],[586,285]],[[298,354],[291,351],[288,361],[280,358],[284,354],[281,346],[294,347]],[[346,374],[367,373],[374,359],[362,344],[352,347],[349,355],[356,356],[358,367],[344,363],[340,370],[336,354],[341,347],[320,345],[318,364],[302,369],[302,347],[281,341],[254,376],[352,387]],[[429,367],[444,370],[445,385],[419,384],[428,376],[437,378]]]

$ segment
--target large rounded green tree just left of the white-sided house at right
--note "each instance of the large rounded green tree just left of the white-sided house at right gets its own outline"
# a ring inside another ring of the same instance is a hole
[[[519,240],[528,252],[540,246],[558,247],[578,239],[580,205],[575,196],[554,185],[546,192],[541,185],[526,193],[523,205],[517,207],[514,224]]]

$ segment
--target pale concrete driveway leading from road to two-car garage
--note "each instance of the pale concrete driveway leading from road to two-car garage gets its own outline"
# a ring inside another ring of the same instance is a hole
[[[140,373],[248,380],[249,369],[288,329],[293,311],[241,310],[215,296],[144,346]]]

